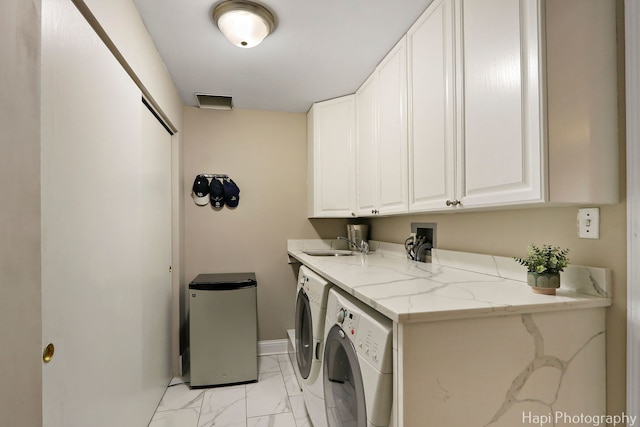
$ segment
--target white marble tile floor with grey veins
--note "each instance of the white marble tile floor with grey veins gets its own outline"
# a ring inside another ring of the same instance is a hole
[[[149,427],[312,427],[287,354],[258,357],[258,382],[191,389],[175,378]]]

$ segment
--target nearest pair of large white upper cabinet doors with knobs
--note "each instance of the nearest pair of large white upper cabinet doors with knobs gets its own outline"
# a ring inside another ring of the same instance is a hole
[[[409,30],[411,211],[544,199],[538,28],[534,1],[436,0]]]

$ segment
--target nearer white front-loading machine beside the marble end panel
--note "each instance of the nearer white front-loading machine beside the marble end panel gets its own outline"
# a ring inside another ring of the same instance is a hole
[[[329,427],[388,427],[393,325],[337,288],[329,291],[323,361]]]

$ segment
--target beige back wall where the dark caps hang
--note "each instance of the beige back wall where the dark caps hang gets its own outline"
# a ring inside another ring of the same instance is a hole
[[[287,264],[287,239],[335,238],[346,224],[306,218],[306,114],[186,107],[184,126],[187,282],[200,273],[254,271],[258,339],[285,338],[297,270]],[[238,207],[197,206],[191,186],[199,173],[229,174],[241,190]]]

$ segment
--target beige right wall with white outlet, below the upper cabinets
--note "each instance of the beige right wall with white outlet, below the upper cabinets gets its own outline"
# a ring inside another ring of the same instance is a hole
[[[613,272],[613,306],[607,312],[607,413],[626,403],[626,203],[600,207],[600,239],[579,239],[577,207],[398,216],[370,220],[374,240],[403,243],[412,222],[437,224],[437,247],[501,256],[525,255],[527,245],[570,248],[573,264]]]

